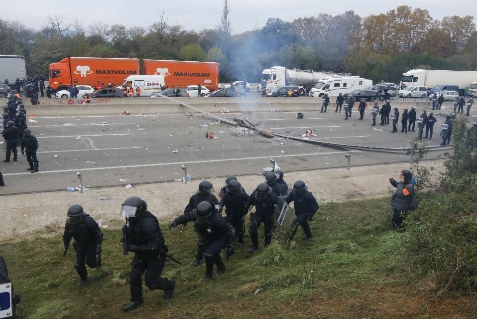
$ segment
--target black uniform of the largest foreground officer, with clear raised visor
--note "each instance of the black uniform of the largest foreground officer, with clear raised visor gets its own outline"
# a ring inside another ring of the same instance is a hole
[[[162,278],[167,246],[156,216],[145,210],[141,215],[128,218],[128,251],[134,252],[132,269],[127,276],[131,302],[142,302],[142,280],[149,290],[173,290],[175,282]]]

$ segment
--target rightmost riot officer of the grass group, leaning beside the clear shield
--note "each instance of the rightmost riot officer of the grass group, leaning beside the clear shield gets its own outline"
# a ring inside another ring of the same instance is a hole
[[[305,237],[303,237],[303,239],[312,239],[313,235],[310,231],[308,220],[311,220],[313,218],[319,206],[313,194],[307,190],[307,187],[303,180],[297,180],[295,184],[293,184],[293,190],[286,197],[285,201],[288,204],[293,201],[293,204],[295,206],[296,218],[291,226],[291,239],[293,240],[293,237],[295,236],[295,233],[298,229],[298,225],[300,225],[305,232]]]

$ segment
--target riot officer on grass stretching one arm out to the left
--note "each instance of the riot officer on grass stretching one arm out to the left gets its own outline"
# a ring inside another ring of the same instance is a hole
[[[169,228],[186,221],[195,221],[195,228],[205,239],[205,276],[202,282],[212,280],[214,264],[217,265],[217,273],[223,274],[226,270],[220,253],[224,247],[227,247],[228,256],[234,254],[235,229],[222,217],[216,210],[211,201],[203,201],[197,205],[193,211],[179,216],[170,224]]]

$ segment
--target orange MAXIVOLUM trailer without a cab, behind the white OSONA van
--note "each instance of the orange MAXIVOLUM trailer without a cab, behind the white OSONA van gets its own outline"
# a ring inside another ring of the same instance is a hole
[[[219,88],[219,63],[172,60],[144,60],[144,75],[163,75],[166,88],[188,85]]]

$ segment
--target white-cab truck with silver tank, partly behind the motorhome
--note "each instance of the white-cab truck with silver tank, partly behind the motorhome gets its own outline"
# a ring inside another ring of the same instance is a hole
[[[342,77],[351,74],[333,73],[328,71],[286,69],[284,66],[272,66],[262,71],[260,76],[260,91],[262,95],[277,86],[298,86],[300,95],[305,95],[323,77]]]

